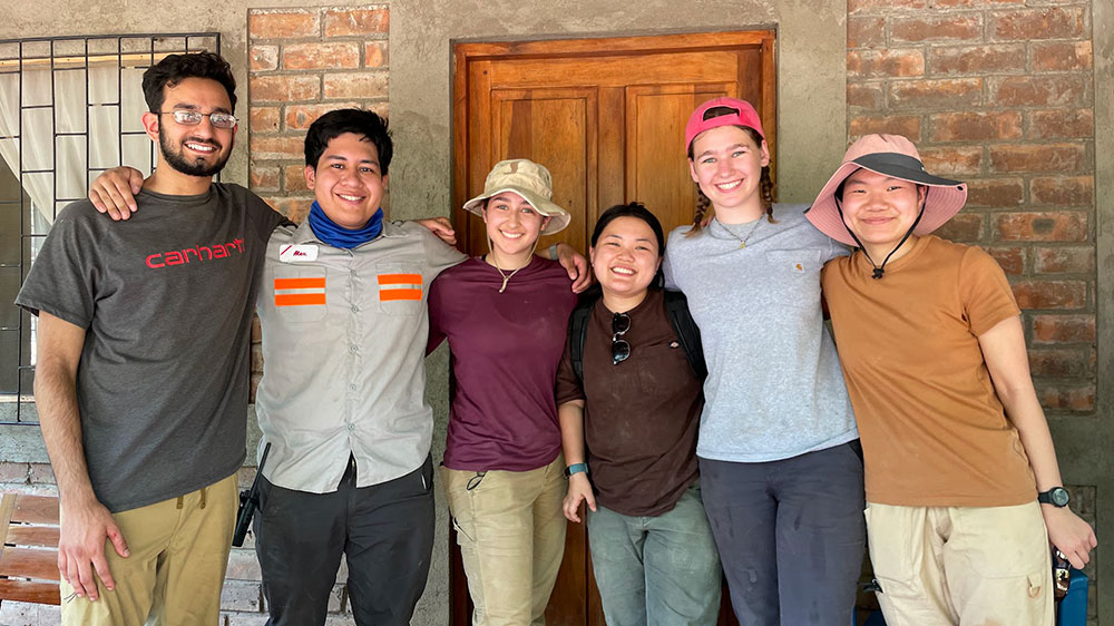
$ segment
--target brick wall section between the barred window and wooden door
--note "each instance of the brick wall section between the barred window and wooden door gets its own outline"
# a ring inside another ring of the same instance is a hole
[[[313,199],[310,124],[343,107],[387,115],[389,26],[385,4],[248,11],[250,185],[295,222]]]

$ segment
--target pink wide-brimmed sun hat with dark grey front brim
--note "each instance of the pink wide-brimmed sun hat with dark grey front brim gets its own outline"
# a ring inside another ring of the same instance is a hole
[[[901,135],[867,135],[847,149],[843,164],[805,212],[809,222],[820,232],[849,246],[858,246],[859,243],[843,222],[836,192],[848,176],[860,168],[928,187],[925,209],[912,231],[915,235],[927,235],[939,228],[967,203],[967,185],[926,172],[912,141]]]

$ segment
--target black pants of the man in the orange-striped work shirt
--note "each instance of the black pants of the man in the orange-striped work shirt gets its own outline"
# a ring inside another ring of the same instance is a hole
[[[355,487],[349,461],[332,493],[261,482],[255,554],[263,569],[268,625],[325,623],[341,554],[360,626],[404,626],[426,589],[433,549],[433,463],[394,480]]]

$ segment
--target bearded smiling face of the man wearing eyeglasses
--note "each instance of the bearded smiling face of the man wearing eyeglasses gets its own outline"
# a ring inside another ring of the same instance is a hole
[[[174,87],[164,87],[163,113],[144,114],[147,134],[158,139],[160,162],[187,176],[213,176],[232,154],[236,127],[216,128],[208,116],[201,124],[178,124],[173,111],[232,114],[232,101],[224,86],[208,78],[186,78]]]

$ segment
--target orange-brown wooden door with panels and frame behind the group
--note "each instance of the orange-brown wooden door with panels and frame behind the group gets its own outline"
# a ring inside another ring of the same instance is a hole
[[[776,163],[774,67],[771,30],[457,45],[453,204],[465,252],[486,253],[487,239],[482,222],[459,207],[507,158],[548,167],[554,202],[571,214],[568,228],[543,237],[538,250],[566,242],[586,253],[596,217],[634,200],[666,232],[690,224],[696,190],[684,146],[688,114],[719,96],[749,100]],[[471,608],[450,540],[450,616],[463,626]],[[724,625],[735,623],[727,606],[724,598]],[[604,625],[583,525],[568,526],[546,619],[549,626]]]

